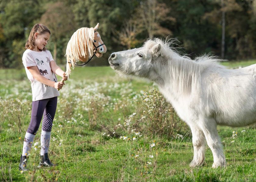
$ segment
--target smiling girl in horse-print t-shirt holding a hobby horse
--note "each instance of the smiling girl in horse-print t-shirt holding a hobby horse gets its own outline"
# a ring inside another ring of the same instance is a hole
[[[26,159],[30,152],[35,134],[41,123],[41,154],[40,165],[54,166],[48,157],[48,149],[50,144],[52,120],[55,116],[57,97],[64,83],[57,82],[55,74],[67,80],[65,72],[57,66],[52,58],[50,51],[45,46],[50,39],[50,30],[42,25],[36,24],[32,28],[28,37],[23,53],[22,62],[25,67],[27,77],[31,81],[32,88],[32,111],[31,120],[27,129],[22,156],[20,157],[20,170],[27,170]]]

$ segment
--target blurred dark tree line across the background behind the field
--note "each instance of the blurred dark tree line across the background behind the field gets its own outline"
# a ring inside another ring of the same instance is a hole
[[[107,53],[91,66],[108,65],[111,52],[133,49],[148,38],[176,38],[190,57],[256,58],[256,0],[1,0],[0,68],[21,68],[31,28],[52,31],[48,50],[65,64],[66,45],[81,27],[94,27]]]

